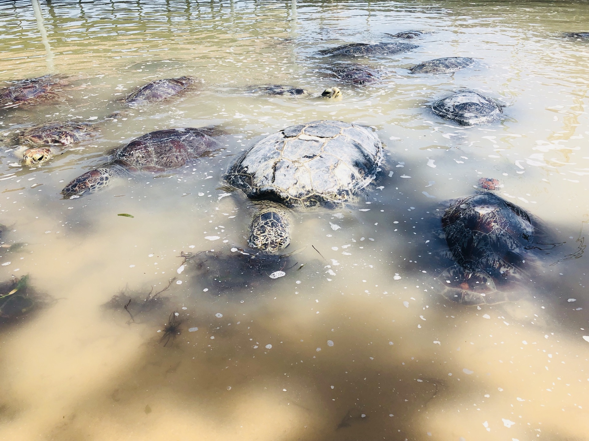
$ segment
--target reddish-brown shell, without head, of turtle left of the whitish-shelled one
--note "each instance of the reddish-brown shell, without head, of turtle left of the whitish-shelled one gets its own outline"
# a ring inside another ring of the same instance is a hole
[[[145,133],[118,150],[118,165],[143,171],[164,171],[183,166],[189,158],[203,156],[221,147],[209,128],[165,129]]]

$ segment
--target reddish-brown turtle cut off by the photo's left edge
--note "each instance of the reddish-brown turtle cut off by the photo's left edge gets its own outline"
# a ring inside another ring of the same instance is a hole
[[[58,98],[58,92],[67,85],[64,77],[57,75],[44,75],[11,83],[12,85],[0,89],[0,105],[5,108],[54,102]]]

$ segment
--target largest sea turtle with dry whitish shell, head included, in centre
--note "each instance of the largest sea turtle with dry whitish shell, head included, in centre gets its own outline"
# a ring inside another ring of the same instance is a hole
[[[288,208],[336,208],[376,176],[382,143],[370,129],[312,121],[266,136],[230,166],[224,178],[257,202],[252,248],[274,253],[290,243]]]

